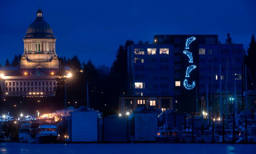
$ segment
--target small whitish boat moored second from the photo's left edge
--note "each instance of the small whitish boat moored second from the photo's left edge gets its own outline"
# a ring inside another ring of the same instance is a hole
[[[19,142],[28,143],[30,138],[30,124],[21,124],[21,128],[19,128]]]

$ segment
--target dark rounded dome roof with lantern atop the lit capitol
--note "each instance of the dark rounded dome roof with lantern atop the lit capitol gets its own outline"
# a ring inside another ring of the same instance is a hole
[[[52,28],[50,25],[44,21],[42,16],[42,10],[37,10],[37,17],[34,22],[32,22],[25,35],[25,39],[29,38],[54,38]]]

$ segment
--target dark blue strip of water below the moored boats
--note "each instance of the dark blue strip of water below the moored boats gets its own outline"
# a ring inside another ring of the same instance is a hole
[[[28,144],[0,143],[1,154],[255,154],[255,144]]]

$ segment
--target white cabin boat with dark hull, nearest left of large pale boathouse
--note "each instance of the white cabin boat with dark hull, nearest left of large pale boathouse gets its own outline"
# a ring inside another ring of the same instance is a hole
[[[54,124],[41,124],[36,128],[35,143],[57,143],[58,133]]]

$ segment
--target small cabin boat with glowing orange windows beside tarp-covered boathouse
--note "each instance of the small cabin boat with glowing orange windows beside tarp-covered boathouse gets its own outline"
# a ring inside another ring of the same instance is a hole
[[[157,134],[155,135],[157,143],[171,143],[180,142],[179,131],[172,127],[158,127]]]

